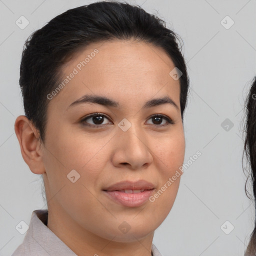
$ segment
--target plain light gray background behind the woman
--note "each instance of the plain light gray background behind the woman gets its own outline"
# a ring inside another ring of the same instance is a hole
[[[164,18],[184,41],[191,80],[184,162],[202,153],[183,173],[153,243],[163,256],[243,255],[254,216],[241,157],[244,99],[256,74],[256,0],[127,1]],[[29,223],[34,209],[46,208],[41,178],[23,161],[14,133],[15,118],[24,114],[18,85],[24,41],[57,14],[91,2],[0,0],[0,255],[10,255],[23,240],[17,223]],[[15,24],[21,15],[29,21],[24,29]],[[234,21],[229,29],[221,24],[226,15]],[[228,130],[221,126],[226,118],[233,123]],[[221,229],[226,220],[234,226],[229,234]]]

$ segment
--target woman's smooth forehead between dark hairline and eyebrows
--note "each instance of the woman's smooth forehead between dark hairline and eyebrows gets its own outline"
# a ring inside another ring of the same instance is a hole
[[[91,43],[63,65],[64,86],[54,100],[67,104],[88,92],[129,99],[151,98],[156,93],[179,98],[179,81],[169,75],[173,68],[163,49],[146,42]]]

